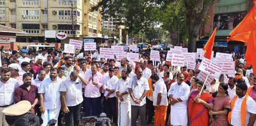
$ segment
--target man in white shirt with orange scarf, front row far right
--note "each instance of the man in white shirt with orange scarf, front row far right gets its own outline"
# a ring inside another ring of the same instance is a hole
[[[255,126],[256,102],[246,92],[247,85],[236,84],[236,95],[231,101],[231,112],[228,114],[228,121],[232,126]]]

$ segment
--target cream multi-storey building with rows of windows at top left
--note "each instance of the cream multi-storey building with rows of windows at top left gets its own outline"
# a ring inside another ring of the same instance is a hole
[[[75,39],[100,33],[100,14],[90,12],[98,0],[0,0],[0,24],[28,34],[17,34],[17,41],[56,42],[55,38],[44,38],[45,31],[64,32],[67,38],[57,39],[66,43],[73,39],[72,17]]]

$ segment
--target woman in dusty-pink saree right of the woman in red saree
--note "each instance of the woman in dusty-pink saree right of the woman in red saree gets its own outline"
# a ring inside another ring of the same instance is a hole
[[[230,100],[231,98],[227,93],[228,86],[225,83],[221,83],[218,92],[213,93],[213,109],[209,111],[210,126],[228,126],[227,115],[231,110]]]

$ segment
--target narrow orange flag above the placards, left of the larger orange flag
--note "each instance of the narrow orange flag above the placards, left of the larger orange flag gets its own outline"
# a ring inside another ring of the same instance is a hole
[[[203,51],[205,52],[204,57],[209,60],[211,60],[216,30],[217,30],[217,28],[214,29],[212,36],[209,38],[209,40],[206,42],[206,44],[203,47]]]

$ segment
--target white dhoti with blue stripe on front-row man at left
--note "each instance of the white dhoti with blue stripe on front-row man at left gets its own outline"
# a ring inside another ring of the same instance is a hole
[[[61,107],[55,109],[45,109],[44,114],[41,115],[43,119],[43,124],[41,126],[46,126],[51,119],[57,120],[55,126],[58,126],[58,117],[60,114]]]

